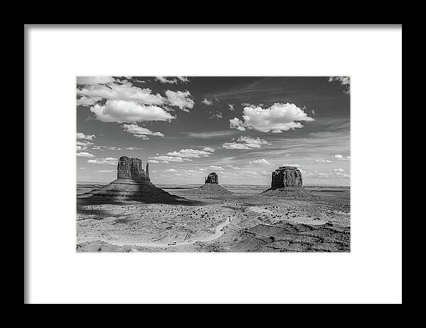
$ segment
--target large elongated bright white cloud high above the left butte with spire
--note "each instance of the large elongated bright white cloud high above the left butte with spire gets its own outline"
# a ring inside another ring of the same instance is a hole
[[[168,121],[175,119],[158,106],[145,106],[124,100],[108,100],[104,106],[95,104],[90,108],[102,122]]]

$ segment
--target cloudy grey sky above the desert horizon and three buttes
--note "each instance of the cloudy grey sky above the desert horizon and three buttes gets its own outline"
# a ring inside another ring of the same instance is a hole
[[[77,182],[111,182],[121,156],[157,185],[350,184],[349,77],[77,77]]]

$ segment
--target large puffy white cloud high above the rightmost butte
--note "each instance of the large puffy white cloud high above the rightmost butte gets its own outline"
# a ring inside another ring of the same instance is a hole
[[[301,129],[300,121],[314,121],[295,104],[275,103],[263,109],[261,106],[246,106],[242,120],[235,117],[229,120],[231,129],[240,131],[253,129],[261,132],[281,133],[290,129]]]

